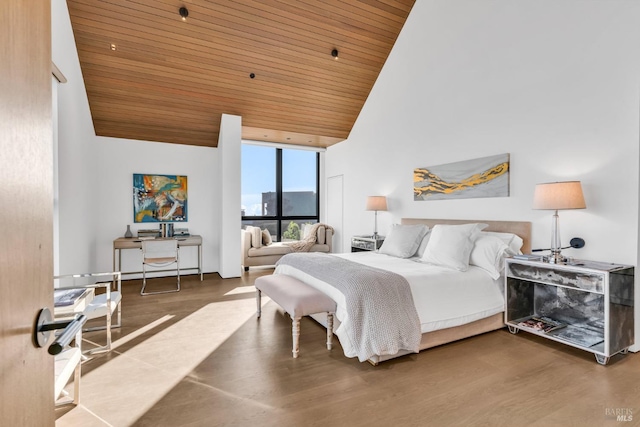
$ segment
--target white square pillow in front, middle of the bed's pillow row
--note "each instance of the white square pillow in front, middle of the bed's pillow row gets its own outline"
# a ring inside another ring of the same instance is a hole
[[[487,224],[434,226],[420,261],[467,271],[473,243],[480,230],[485,227]]]

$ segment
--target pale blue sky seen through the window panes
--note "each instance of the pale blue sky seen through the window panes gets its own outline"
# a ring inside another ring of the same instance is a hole
[[[276,149],[242,145],[242,209],[246,216],[262,215],[262,193],[276,190]],[[316,190],[316,153],[282,151],[282,190]]]

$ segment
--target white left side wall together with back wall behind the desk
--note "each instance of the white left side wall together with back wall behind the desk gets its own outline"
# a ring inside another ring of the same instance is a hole
[[[217,150],[97,137],[62,1],[52,2],[52,56],[68,79],[58,91],[60,273],[112,269],[113,239],[123,236],[133,222],[134,173],[188,177],[189,222],[180,226],[203,237],[204,271],[218,271]],[[140,270],[139,252],[124,251],[123,257],[123,271]],[[181,265],[197,265],[196,248],[181,251]]]

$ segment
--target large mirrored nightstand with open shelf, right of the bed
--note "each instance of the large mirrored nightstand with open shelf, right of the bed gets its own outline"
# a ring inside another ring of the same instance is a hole
[[[505,323],[513,334],[523,330],[589,351],[606,365],[634,344],[633,286],[628,265],[507,259]],[[534,327],[527,323],[532,318]],[[541,318],[560,327],[538,330]]]

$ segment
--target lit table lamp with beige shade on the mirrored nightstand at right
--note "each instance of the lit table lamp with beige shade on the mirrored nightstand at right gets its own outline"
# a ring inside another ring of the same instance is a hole
[[[533,209],[555,211],[551,225],[550,263],[562,264],[566,261],[561,253],[558,210],[585,209],[586,207],[580,181],[548,182],[536,185],[533,195]]]

